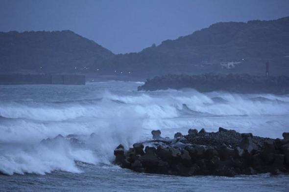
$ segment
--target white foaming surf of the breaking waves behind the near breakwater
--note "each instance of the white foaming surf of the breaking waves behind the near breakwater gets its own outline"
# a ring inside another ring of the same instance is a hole
[[[93,88],[91,93],[95,94]],[[4,117],[0,119],[0,171],[81,172],[75,161],[110,163],[115,147],[149,138],[152,129],[161,129],[169,137],[177,131],[185,134],[188,128],[216,131],[218,127],[279,137],[289,126],[289,96],[168,90],[101,91],[99,97],[95,102],[0,102]],[[257,97],[266,100],[251,100]],[[90,137],[93,132],[96,136]],[[75,147],[65,139],[53,141],[52,146],[40,144],[58,134],[80,135],[84,145]]]

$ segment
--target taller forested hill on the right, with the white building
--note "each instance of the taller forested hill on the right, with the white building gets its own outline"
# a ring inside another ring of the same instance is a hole
[[[221,70],[218,68],[221,62],[241,62],[233,71],[262,70],[262,74],[265,62],[270,62],[276,74],[282,72],[282,68],[289,65],[289,17],[273,21],[218,22],[191,35],[167,40],[158,46],[153,44],[139,53],[117,55],[112,63],[142,70],[209,72],[206,70]],[[215,68],[210,64],[216,65]],[[286,70],[289,72],[289,68]]]

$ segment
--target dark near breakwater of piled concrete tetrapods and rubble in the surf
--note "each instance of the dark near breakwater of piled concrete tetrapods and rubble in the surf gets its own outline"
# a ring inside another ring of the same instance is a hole
[[[181,176],[289,172],[289,133],[283,133],[283,139],[225,128],[210,133],[190,129],[188,133],[178,132],[169,139],[153,130],[152,140],[135,143],[128,150],[119,145],[115,164],[137,172]]]

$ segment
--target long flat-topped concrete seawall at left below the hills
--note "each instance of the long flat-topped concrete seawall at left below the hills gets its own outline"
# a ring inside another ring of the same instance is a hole
[[[85,85],[85,75],[0,74],[0,85],[21,84]]]

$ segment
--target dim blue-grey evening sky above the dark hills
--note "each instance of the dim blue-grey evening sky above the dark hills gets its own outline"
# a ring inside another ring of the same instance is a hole
[[[289,0],[0,0],[0,31],[72,30],[138,52],[219,21],[289,16]]]

